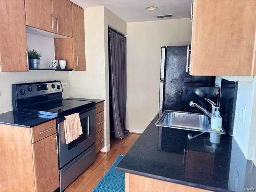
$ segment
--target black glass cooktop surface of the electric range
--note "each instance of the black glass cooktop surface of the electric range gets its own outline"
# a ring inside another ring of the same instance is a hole
[[[19,111],[50,116],[65,116],[74,112],[86,110],[95,105],[93,101],[60,99],[19,108]]]

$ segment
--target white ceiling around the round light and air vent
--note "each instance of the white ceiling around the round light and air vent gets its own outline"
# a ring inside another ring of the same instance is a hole
[[[105,6],[126,22],[159,20],[156,15],[173,14],[174,18],[190,17],[191,0],[72,0],[81,7]],[[157,6],[147,11],[146,6]]]

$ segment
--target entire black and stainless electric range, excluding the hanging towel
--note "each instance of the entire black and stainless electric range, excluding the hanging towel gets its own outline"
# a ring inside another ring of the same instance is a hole
[[[63,191],[95,160],[95,102],[62,98],[60,81],[12,85],[14,111],[56,117],[60,191]],[[66,144],[64,120],[79,113],[82,134]],[[46,131],[48,128],[46,128]]]

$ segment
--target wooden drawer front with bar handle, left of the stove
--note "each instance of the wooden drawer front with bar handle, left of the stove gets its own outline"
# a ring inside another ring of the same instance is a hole
[[[46,138],[54,133],[56,133],[56,120],[51,120],[44,124],[31,128],[31,140],[35,143],[43,138]]]

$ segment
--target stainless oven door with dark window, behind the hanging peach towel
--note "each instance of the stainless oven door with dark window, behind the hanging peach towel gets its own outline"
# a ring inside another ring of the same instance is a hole
[[[76,158],[79,154],[84,152],[87,148],[92,146],[96,140],[96,119],[95,119],[95,106],[87,110],[79,112],[80,121],[82,125],[83,134],[76,140],[66,144],[64,133],[64,120],[65,117],[57,119],[58,131],[58,155],[59,167],[62,168],[68,162]]]

